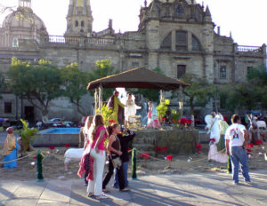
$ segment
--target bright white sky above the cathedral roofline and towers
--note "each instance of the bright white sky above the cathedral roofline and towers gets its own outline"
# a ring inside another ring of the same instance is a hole
[[[19,0],[0,0],[0,4],[17,6]],[[135,31],[144,0],[91,0],[93,30],[108,28],[109,19],[118,32]],[[229,36],[240,45],[267,44],[267,0],[197,0],[208,4],[212,18],[221,27],[221,35]],[[44,20],[50,35],[62,36],[66,31],[69,0],[32,0],[32,8]],[[0,13],[2,24],[8,12]],[[216,31],[216,28],[215,28]]]

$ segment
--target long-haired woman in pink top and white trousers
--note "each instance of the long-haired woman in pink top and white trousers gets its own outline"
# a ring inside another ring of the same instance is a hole
[[[107,131],[104,127],[103,117],[95,115],[93,125],[89,129],[88,136],[90,139],[91,152],[93,157],[93,180],[89,181],[87,192],[88,197],[96,196],[97,199],[106,199],[106,195],[102,194],[102,177],[106,162],[106,153],[104,142],[107,138]]]

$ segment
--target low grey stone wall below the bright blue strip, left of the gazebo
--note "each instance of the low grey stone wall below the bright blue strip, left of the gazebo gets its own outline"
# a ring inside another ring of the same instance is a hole
[[[38,134],[32,143],[33,147],[64,147],[65,144],[78,147],[79,134]]]

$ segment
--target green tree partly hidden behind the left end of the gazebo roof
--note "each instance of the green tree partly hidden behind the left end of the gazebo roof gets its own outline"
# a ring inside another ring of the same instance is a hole
[[[111,66],[111,61],[109,59],[101,59],[95,62],[95,67],[92,70],[90,75],[90,81],[94,81],[109,75],[115,75],[118,71],[115,70],[114,67]],[[114,88],[115,89],[115,88]],[[103,89],[102,98],[103,100],[108,100],[112,95],[114,89]],[[93,95],[93,91],[91,91]]]

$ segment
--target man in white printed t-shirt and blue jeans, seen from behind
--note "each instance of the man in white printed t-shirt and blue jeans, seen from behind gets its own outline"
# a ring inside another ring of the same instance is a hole
[[[231,157],[233,183],[234,185],[239,184],[239,164],[241,164],[243,177],[246,183],[250,184],[246,151],[248,138],[247,130],[246,127],[241,124],[239,115],[233,115],[231,122],[231,126],[225,133],[225,140],[227,155]]]

